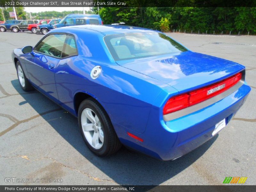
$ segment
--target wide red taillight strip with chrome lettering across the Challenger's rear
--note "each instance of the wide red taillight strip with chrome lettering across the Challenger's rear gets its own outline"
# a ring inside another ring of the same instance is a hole
[[[206,86],[195,91],[184,93],[170,98],[164,106],[163,114],[172,113],[190,107],[204,100],[214,97],[234,86],[242,78],[242,73],[237,73],[223,81]]]

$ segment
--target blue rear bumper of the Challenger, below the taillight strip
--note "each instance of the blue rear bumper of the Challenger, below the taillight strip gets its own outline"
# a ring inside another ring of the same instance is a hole
[[[137,151],[161,160],[173,160],[183,156],[210,140],[215,124],[226,119],[226,124],[244,104],[251,88],[243,84],[238,90],[218,102],[180,118],[164,121],[159,108],[152,107],[144,133],[122,127],[117,129],[120,141]],[[116,126],[120,125],[114,125]],[[228,128],[228,127],[224,127]],[[127,132],[143,139],[143,142],[127,136]]]

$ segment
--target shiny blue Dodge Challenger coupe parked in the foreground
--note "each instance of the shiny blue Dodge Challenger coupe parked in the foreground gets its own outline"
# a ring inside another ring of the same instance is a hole
[[[36,88],[78,117],[98,156],[123,144],[174,160],[225,127],[251,90],[244,66],[145,28],[57,28],[12,58],[22,89]]]

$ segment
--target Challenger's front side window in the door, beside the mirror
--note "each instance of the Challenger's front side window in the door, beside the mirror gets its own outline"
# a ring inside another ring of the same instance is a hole
[[[45,55],[61,58],[62,49],[67,35],[52,34],[45,37],[34,48],[35,52],[43,53]]]

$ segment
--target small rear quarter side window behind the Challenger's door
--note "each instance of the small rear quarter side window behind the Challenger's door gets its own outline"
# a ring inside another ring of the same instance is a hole
[[[67,35],[61,58],[78,55],[74,36]]]

